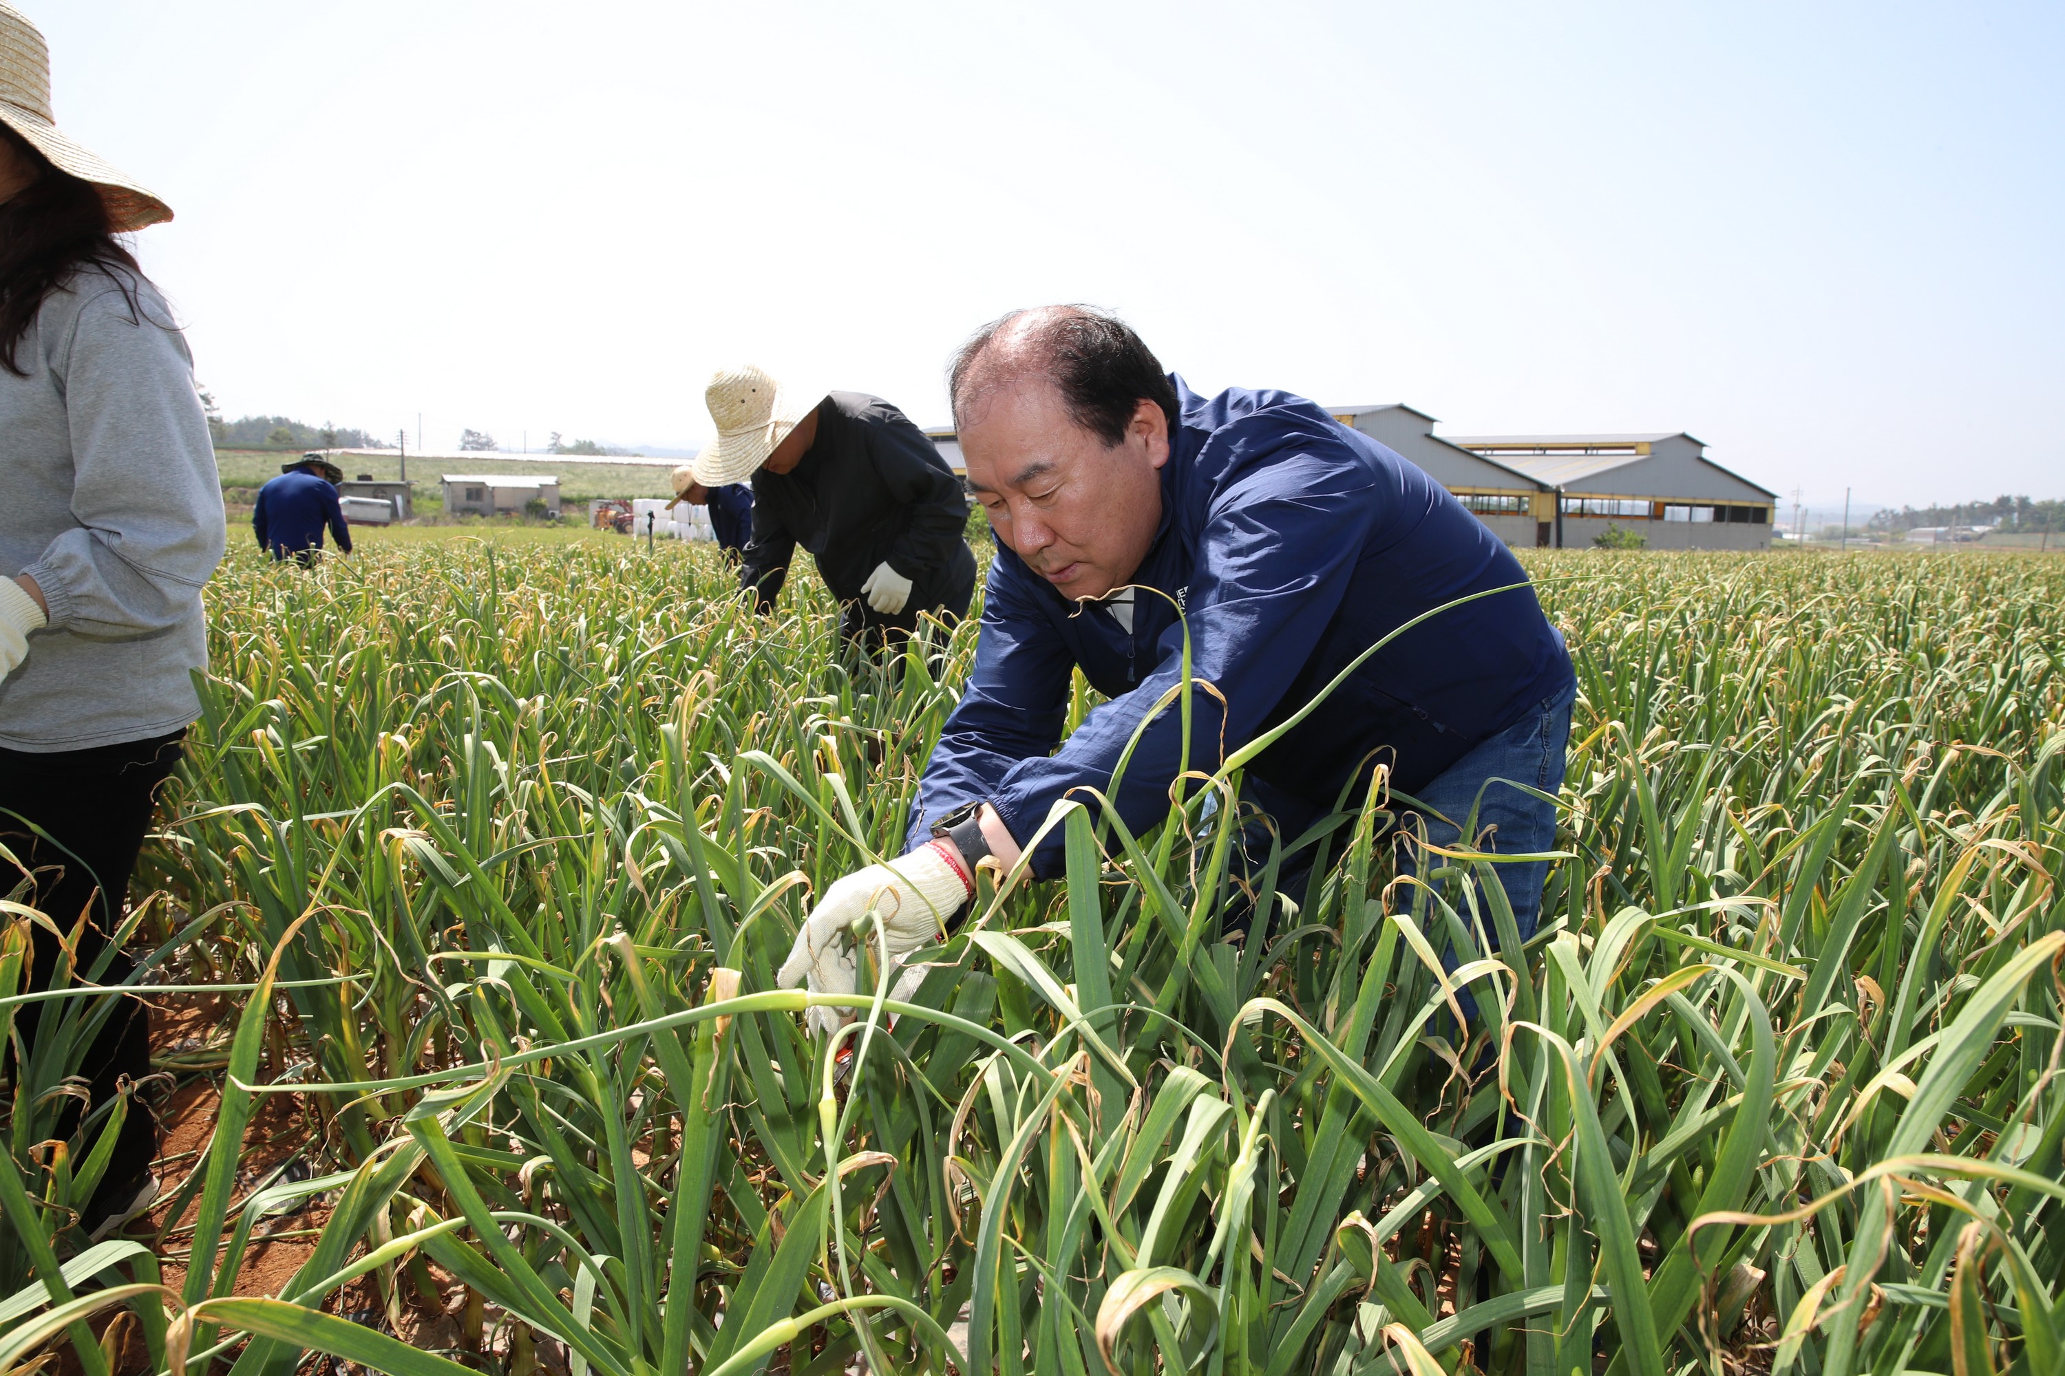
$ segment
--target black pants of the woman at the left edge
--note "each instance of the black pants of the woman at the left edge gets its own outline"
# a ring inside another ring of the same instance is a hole
[[[72,930],[81,912],[89,918],[78,937],[74,984],[93,968],[107,947],[107,935],[122,922],[128,881],[157,807],[157,788],[178,767],[184,736],[182,728],[169,736],[50,755],[0,749],[0,844],[35,877],[29,904],[64,932]],[[35,836],[25,821],[52,840]],[[19,881],[19,873],[0,875],[0,889],[12,889]],[[33,932],[31,992],[50,988],[60,953],[47,930],[35,926]],[[120,984],[134,968],[126,953],[116,951],[97,982]],[[23,1046],[35,1046],[43,1009],[52,1007],[56,1005],[31,1003],[14,1015]],[[151,1073],[151,1015],[142,1001],[124,998],[116,1007],[87,1048],[81,1071],[91,1081],[95,1108],[114,1100],[124,1077],[138,1083]],[[58,1131],[70,1133],[76,1124],[78,1112],[68,1112]],[[138,1182],[155,1157],[157,1120],[140,1100],[130,1100],[114,1159],[101,1176],[103,1190]]]

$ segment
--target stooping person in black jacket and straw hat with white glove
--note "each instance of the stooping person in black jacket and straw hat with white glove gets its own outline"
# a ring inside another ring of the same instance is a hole
[[[712,489],[754,479],[739,588],[760,611],[774,607],[801,545],[845,607],[840,633],[871,652],[896,646],[923,615],[966,615],[968,499],[902,411],[863,392],[795,396],[752,365],[719,371],[704,400],[717,441],[696,456],[694,477]]]

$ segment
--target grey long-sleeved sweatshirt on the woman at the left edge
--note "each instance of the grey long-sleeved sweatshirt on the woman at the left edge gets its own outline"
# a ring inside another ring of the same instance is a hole
[[[0,747],[78,751],[200,716],[200,586],[223,557],[223,489],[194,359],[151,283],[85,268],[0,367],[0,574],[50,625],[0,681]],[[124,291],[126,289],[126,291]]]

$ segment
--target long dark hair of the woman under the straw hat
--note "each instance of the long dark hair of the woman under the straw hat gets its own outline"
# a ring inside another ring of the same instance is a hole
[[[91,182],[58,171],[4,124],[0,138],[41,169],[35,182],[0,200],[0,367],[27,378],[29,369],[14,361],[14,351],[43,309],[43,297],[78,268],[99,266],[114,276],[134,312],[142,268],[116,241],[107,204]]]

